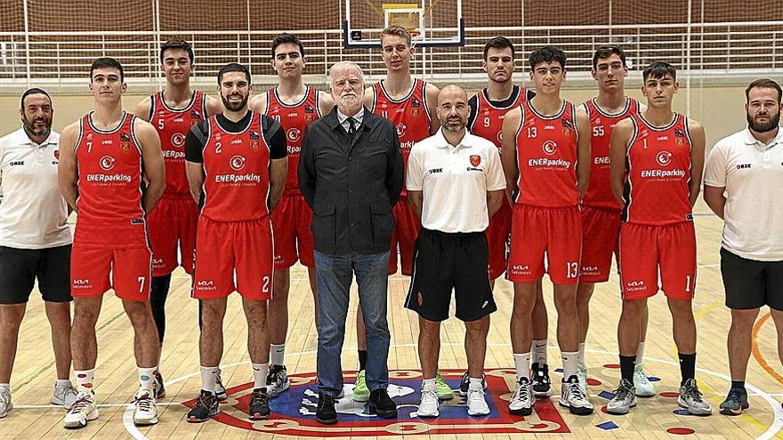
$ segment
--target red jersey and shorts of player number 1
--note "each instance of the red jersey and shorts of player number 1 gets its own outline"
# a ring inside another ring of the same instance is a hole
[[[628,177],[620,228],[620,283],[623,298],[658,292],[658,269],[666,296],[693,298],[696,286],[696,232],[690,210],[688,118],[674,114],[655,127],[642,115],[631,118]]]

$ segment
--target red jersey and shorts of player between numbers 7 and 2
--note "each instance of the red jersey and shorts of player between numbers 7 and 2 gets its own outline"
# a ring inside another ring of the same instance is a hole
[[[192,275],[198,206],[190,196],[185,173],[185,139],[193,124],[206,119],[206,94],[194,91],[184,108],[168,107],[163,92],[155,93],[150,99],[149,122],[160,138],[165,163],[165,191],[147,218],[153,254],[152,275],[168,275],[180,265],[177,244],[182,254],[182,268]]]

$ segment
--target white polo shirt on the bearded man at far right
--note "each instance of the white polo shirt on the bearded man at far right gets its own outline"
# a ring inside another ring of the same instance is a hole
[[[715,144],[704,183],[726,188],[722,246],[748,260],[783,260],[783,129],[763,145],[746,128]]]

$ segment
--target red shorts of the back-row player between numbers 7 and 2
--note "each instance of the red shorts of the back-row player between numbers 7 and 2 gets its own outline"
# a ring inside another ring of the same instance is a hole
[[[147,216],[152,246],[152,275],[165,276],[182,265],[193,275],[198,206],[192,198],[162,198]],[[182,260],[177,259],[177,245]]]

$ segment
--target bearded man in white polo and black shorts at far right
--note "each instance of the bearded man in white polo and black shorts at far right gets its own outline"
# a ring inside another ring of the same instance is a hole
[[[747,86],[747,128],[718,141],[706,162],[704,200],[725,222],[721,274],[731,308],[731,389],[721,413],[747,409],[745,375],[759,309],[771,309],[783,361],[783,132],[781,91],[770,79]]]

